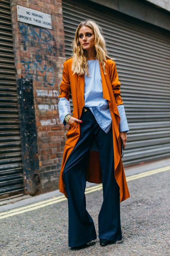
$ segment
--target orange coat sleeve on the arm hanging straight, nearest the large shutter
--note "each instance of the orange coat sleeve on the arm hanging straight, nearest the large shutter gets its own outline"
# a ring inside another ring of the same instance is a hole
[[[115,62],[112,62],[110,79],[112,83],[112,89],[113,89],[113,94],[114,94],[116,104],[117,106],[121,105],[123,104],[123,101],[121,98],[121,89],[120,89],[121,83],[118,80],[118,72],[117,72]]]

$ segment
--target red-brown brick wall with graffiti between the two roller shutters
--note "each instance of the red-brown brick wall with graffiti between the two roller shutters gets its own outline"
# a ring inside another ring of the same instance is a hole
[[[58,116],[65,60],[61,0],[11,0],[16,79],[33,79],[40,193],[58,189],[66,129]],[[52,29],[17,21],[16,5],[51,14]],[[30,170],[31,171],[31,170]]]

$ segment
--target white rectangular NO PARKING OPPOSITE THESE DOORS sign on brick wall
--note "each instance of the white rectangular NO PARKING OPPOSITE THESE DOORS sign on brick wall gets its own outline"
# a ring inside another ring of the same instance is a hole
[[[51,15],[17,5],[18,21],[52,29]]]

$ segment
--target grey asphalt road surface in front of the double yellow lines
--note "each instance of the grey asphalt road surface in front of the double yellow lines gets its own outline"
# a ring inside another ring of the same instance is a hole
[[[121,203],[123,239],[101,247],[68,247],[67,200],[0,220],[0,256],[170,255],[170,171],[128,181],[131,197]],[[62,195],[62,194],[61,194]],[[98,234],[102,190],[86,194]]]

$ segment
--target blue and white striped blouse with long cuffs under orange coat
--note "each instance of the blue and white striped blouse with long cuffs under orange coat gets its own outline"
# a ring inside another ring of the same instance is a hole
[[[108,101],[103,98],[103,89],[101,84],[101,74],[99,61],[94,59],[88,61],[89,77],[85,75],[84,79],[84,103],[89,107],[99,126],[105,133],[108,133],[112,126]],[[66,125],[64,118],[71,114],[70,102],[66,98],[59,98],[58,110],[61,122]],[[126,119],[124,106],[118,106],[121,121],[119,123],[119,132],[128,132],[129,127]]]

